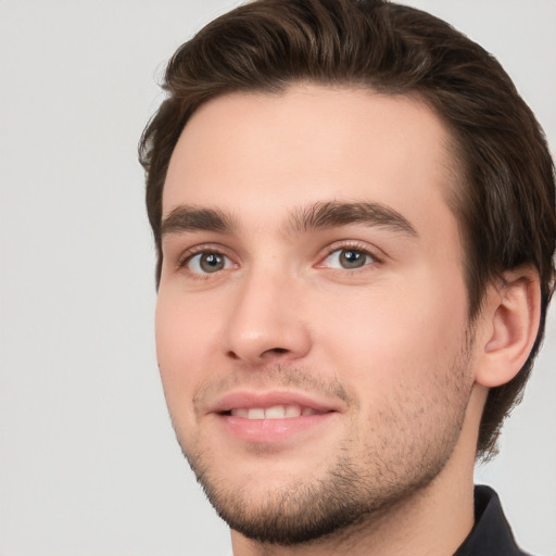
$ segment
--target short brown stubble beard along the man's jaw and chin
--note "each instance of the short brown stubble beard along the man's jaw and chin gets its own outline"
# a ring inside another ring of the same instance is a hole
[[[469,363],[468,345],[447,371],[448,380],[445,367],[437,375],[437,387],[444,390],[435,393],[443,405],[432,421],[416,427],[429,400],[408,412],[405,396],[394,395],[375,416],[377,422],[369,424],[377,432],[363,458],[351,450],[356,441],[345,439],[338,448],[341,455],[321,477],[292,479],[268,490],[264,500],[253,500],[249,484],[242,491],[230,489],[217,477],[208,451],[192,453],[179,434],[178,441],[208,501],[232,530],[281,546],[319,542],[362,523],[371,527],[438,477],[463,428],[471,388]],[[431,422],[437,430],[430,430]]]

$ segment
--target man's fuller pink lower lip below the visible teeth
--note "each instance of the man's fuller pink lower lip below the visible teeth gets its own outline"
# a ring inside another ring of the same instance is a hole
[[[302,415],[289,419],[247,419],[219,415],[226,430],[239,440],[257,444],[270,444],[290,437],[312,431],[328,422],[336,412],[320,415]]]

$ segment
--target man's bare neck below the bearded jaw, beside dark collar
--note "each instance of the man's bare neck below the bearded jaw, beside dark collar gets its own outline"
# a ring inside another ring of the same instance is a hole
[[[459,440],[442,471],[425,488],[379,515],[312,543],[261,544],[231,532],[235,556],[446,556],[472,529],[473,466],[484,392],[476,388]]]

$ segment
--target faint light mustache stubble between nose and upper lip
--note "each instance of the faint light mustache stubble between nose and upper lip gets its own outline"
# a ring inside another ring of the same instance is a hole
[[[354,403],[354,396],[336,377],[323,377],[307,367],[273,365],[262,369],[237,368],[226,376],[211,374],[193,393],[193,407],[202,410],[211,401],[237,388],[252,390],[296,390],[305,394],[339,399]]]

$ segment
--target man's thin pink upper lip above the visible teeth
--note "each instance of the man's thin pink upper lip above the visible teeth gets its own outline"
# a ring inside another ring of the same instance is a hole
[[[231,409],[268,408],[276,405],[300,405],[319,413],[341,410],[341,402],[338,399],[328,399],[318,394],[298,391],[235,391],[224,394],[210,404],[208,413],[227,413]]]

